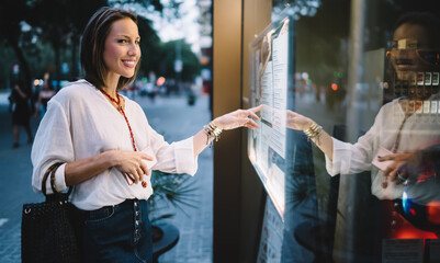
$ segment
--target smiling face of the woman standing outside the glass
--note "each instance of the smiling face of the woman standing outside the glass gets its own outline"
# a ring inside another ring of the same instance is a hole
[[[108,78],[132,78],[140,58],[139,33],[131,19],[113,22],[105,39],[103,60]]]

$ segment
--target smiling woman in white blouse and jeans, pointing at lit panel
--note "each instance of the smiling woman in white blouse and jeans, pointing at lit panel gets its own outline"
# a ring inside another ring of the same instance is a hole
[[[249,116],[258,118],[260,107],[238,110],[167,144],[142,107],[119,94],[139,68],[139,38],[132,12],[102,8],[90,19],[81,39],[86,77],[50,100],[32,150],[36,192],[57,162],[56,190],[75,185],[71,202],[86,218],[86,262],[150,262],[150,170],[193,175],[199,153],[222,129],[258,127]]]

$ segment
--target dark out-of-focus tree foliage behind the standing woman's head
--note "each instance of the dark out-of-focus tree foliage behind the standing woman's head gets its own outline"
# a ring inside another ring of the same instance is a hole
[[[160,0],[5,0],[0,1],[0,87],[11,79],[12,65],[20,64],[20,76],[31,87],[32,79],[50,72],[57,80],[75,80],[79,72],[79,42],[90,16],[101,7],[115,3],[137,3],[161,12]],[[134,10],[136,11],[136,10]],[[23,31],[23,23],[30,27]],[[162,44],[151,26],[151,21],[138,16],[140,48],[143,52],[140,75],[150,71],[174,77],[176,57],[173,44]],[[183,42],[182,42],[183,43]],[[184,79],[193,79],[200,69],[195,55],[182,44]],[[167,50],[167,48],[173,48]],[[61,65],[69,71],[63,72]],[[5,69],[4,69],[5,68]],[[185,75],[189,73],[190,77]]]

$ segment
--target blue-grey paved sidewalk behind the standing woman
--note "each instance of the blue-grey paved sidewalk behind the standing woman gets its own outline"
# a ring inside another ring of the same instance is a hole
[[[0,262],[21,262],[21,207],[23,203],[42,202],[42,195],[32,191],[31,145],[21,128],[21,147],[12,149],[11,115],[8,112],[8,95],[0,92]],[[9,94],[9,93],[8,93]],[[5,101],[4,101],[5,99]],[[185,96],[135,98],[143,106],[147,118],[169,142],[185,139],[198,133],[211,121],[208,98],[198,98],[189,106]],[[32,119],[33,130],[37,122]],[[176,216],[168,219],[180,230],[177,245],[159,258],[160,263],[211,263],[213,244],[213,150],[207,148],[199,156],[199,171],[191,179],[198,188],[194,193],[195,208],[184,211],[170,207]]]

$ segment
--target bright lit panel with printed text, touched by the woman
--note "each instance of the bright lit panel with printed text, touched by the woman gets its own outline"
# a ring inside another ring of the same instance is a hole
[[[269,25],[250,45],[249,102],[263,104],[258,129],[249,129],[248,156],[281,217],[285,209],[290,19]],[[292,60],[291,60],[292,61]]]

